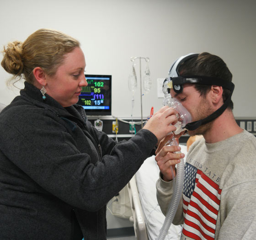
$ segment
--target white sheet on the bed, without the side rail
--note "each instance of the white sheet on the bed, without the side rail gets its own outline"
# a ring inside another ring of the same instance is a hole
[[[185,154],[186,161],[187,146],[181,145],[181,152]],[[155,183],[159,178],[159,168],[155,161],[155,156],[146,159],[136,173],[136,182],[139,198],[144,214],[149,240],[156,240],[159,231],[164,224],[165,215],[161,212],[156,199]],[[182,226],[171,224],[165,240],[179,240]]]

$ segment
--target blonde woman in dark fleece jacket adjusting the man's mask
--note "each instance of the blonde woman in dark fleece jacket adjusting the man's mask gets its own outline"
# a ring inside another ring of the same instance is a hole
[[[175,127],[163,107],[115,144],[75,105],[87,85],[80,43],[40,29],[4,48],[25,88],[0,113],[0,239],[106,239],[106,204]]]

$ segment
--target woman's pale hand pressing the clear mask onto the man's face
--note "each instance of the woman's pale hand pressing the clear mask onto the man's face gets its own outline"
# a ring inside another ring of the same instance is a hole
[[[148,129],[150,132],[154,133],[159,144],[161,139],[168,133],[176,130],[176,127],[173,126],[177,122],[176,114],[177,111],[171,107],[161,107],[158,112],[149,118],[149,121],[145,124],[143,129]]]

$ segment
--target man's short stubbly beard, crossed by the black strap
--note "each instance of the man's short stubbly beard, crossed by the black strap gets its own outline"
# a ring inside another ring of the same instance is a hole
[[[198,110],[196,109],[196,111],[194,112],[195,120],[193,120],[193,121],[201,120],[205,117],[208,117],[209,115],[211,115],[214,112],[213,107],[211,107],[211,105],[209,104],[207,99],[204,97],[200,100],[198,106],[199,106],[199,109]],[[190,136],[204,135],[212,128],[212,126],[213,126],[213,121],[203,124],[195,130],[188,131],[188,134]]]

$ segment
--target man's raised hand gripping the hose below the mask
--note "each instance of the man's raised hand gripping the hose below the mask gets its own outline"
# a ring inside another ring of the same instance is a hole
[[[178,139],[176,139],[176,141],[178,141]],[[172,173],[171,173],[170,167],[172,167],[173,171],[174,171],[175,165],[180,163],[181,158],[184,158],[185,155],[183,153],[175,153],[180,150],[181,150],[181,147],[179,147],[179,146],[162,146],[160,148],[160,145],[159,145],[159,147],[156,151],[155,160],[156,160],[157,165],[163,175],[164,181],[172,180]],[[174,171],[174,173],[175,173],[175,171]],[[174,174],[174,176],[175,176],[175,174]]]

